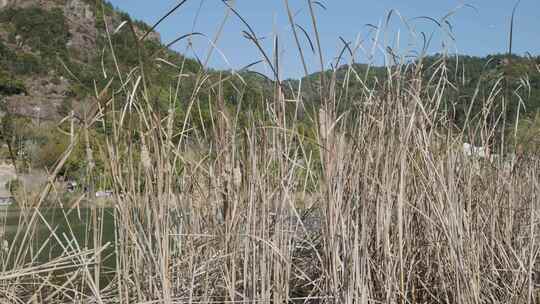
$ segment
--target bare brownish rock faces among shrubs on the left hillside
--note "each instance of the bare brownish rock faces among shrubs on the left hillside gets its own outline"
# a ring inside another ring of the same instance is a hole
[[[103,31],[99,30],[101,24],[97,22],[96,10],[89,3],[95,2],[84,0],[0,0],[0,11],[8,8],[39,8],[44,11],[63,12],[69,31],[69,38],[65,43],[65,49],[69,54],[68,60],[84,70],[84,65],[95,65],[99,54],[98,40],[100,35],[104,35]],[[114,10],[110,10],[110,12],[111,15],[105,16],[105,20],[110,28],[115,28],[122,22],[122,17]],[[143,29],[136,27],[137,35],[142,35],[144,32]],[[160,39],[157,33],[152,33],[148,38],[158,42]],[[24,40],[25,37],[17,32],[16,27],[0,23],[0,42],[11,49],[13,54],[26,54],[27,57],[38,59],[43,57],[40,50],[32,48],[28,43],[24,43]],[[56,58],[47,60],[49,62],[57,61]],[[1,69],[0,65],[0,72]],[[8,109],[16,114],[32,118],[58,120],[63,115],[60,111],[62,103],[67,98],[72,99],[69,103],[74,104],[76,108],[79,97],[74,96],[71,91],[73,82],[67,80],[68,77],[62,77],[61,71],[54,70],[50,65],[46,66],[45,69],[44,73],[30,72],[17,76],[24,82],[26,92],[6,97]]]

